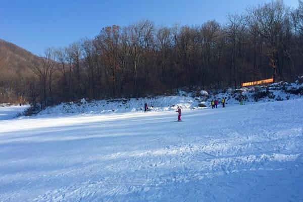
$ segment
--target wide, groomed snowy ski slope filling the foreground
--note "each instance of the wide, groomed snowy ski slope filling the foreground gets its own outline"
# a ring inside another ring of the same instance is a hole
[[[0,114],[6,108],[0,108]],[[303,99],[0,121],[0,201],[303,201]]]

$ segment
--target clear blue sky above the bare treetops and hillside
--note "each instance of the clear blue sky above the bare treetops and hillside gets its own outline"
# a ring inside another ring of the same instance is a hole
[[[49,46],[66,46],[96,36],[113,24],[142,19],[156,25],[222,23],[228,13],[271,0],[0,0],[0,38],[43,55]],[[297,7],[297,0],[284,0]]]

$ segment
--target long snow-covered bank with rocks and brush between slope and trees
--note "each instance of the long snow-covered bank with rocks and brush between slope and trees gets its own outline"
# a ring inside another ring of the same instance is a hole
[[[240,98],[244,104],[256,102],[273,102],[277,100],[296,99],[303,96],[303,76],[293,83],[279,82],[270,86],[255,86],[241,89],[215,90],[211,92],[197,91],[186,93],[178,91],[174,96],[140,97],[130,99],[92,100],[86,102],[83,98],[77,103],[62,103],[48,107],[42,114],[104,114],[142,112],[145,102],[150,111],[175,111],[177,106],[187,109],[201,109],[209,107],[213,99],[226,98],[227,106],[239,105]]]

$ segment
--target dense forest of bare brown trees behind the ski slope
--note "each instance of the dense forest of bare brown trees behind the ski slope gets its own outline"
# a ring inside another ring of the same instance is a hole
[[[303,75],[303,2],[282,1],[195,26],[144,20],[103,28],[93,39],[47,48],[32,63],[26,96],[44,106],[80,98],[136,97],[180,87],[219,89]],[[3,84],[5,85],[5,84]]]

